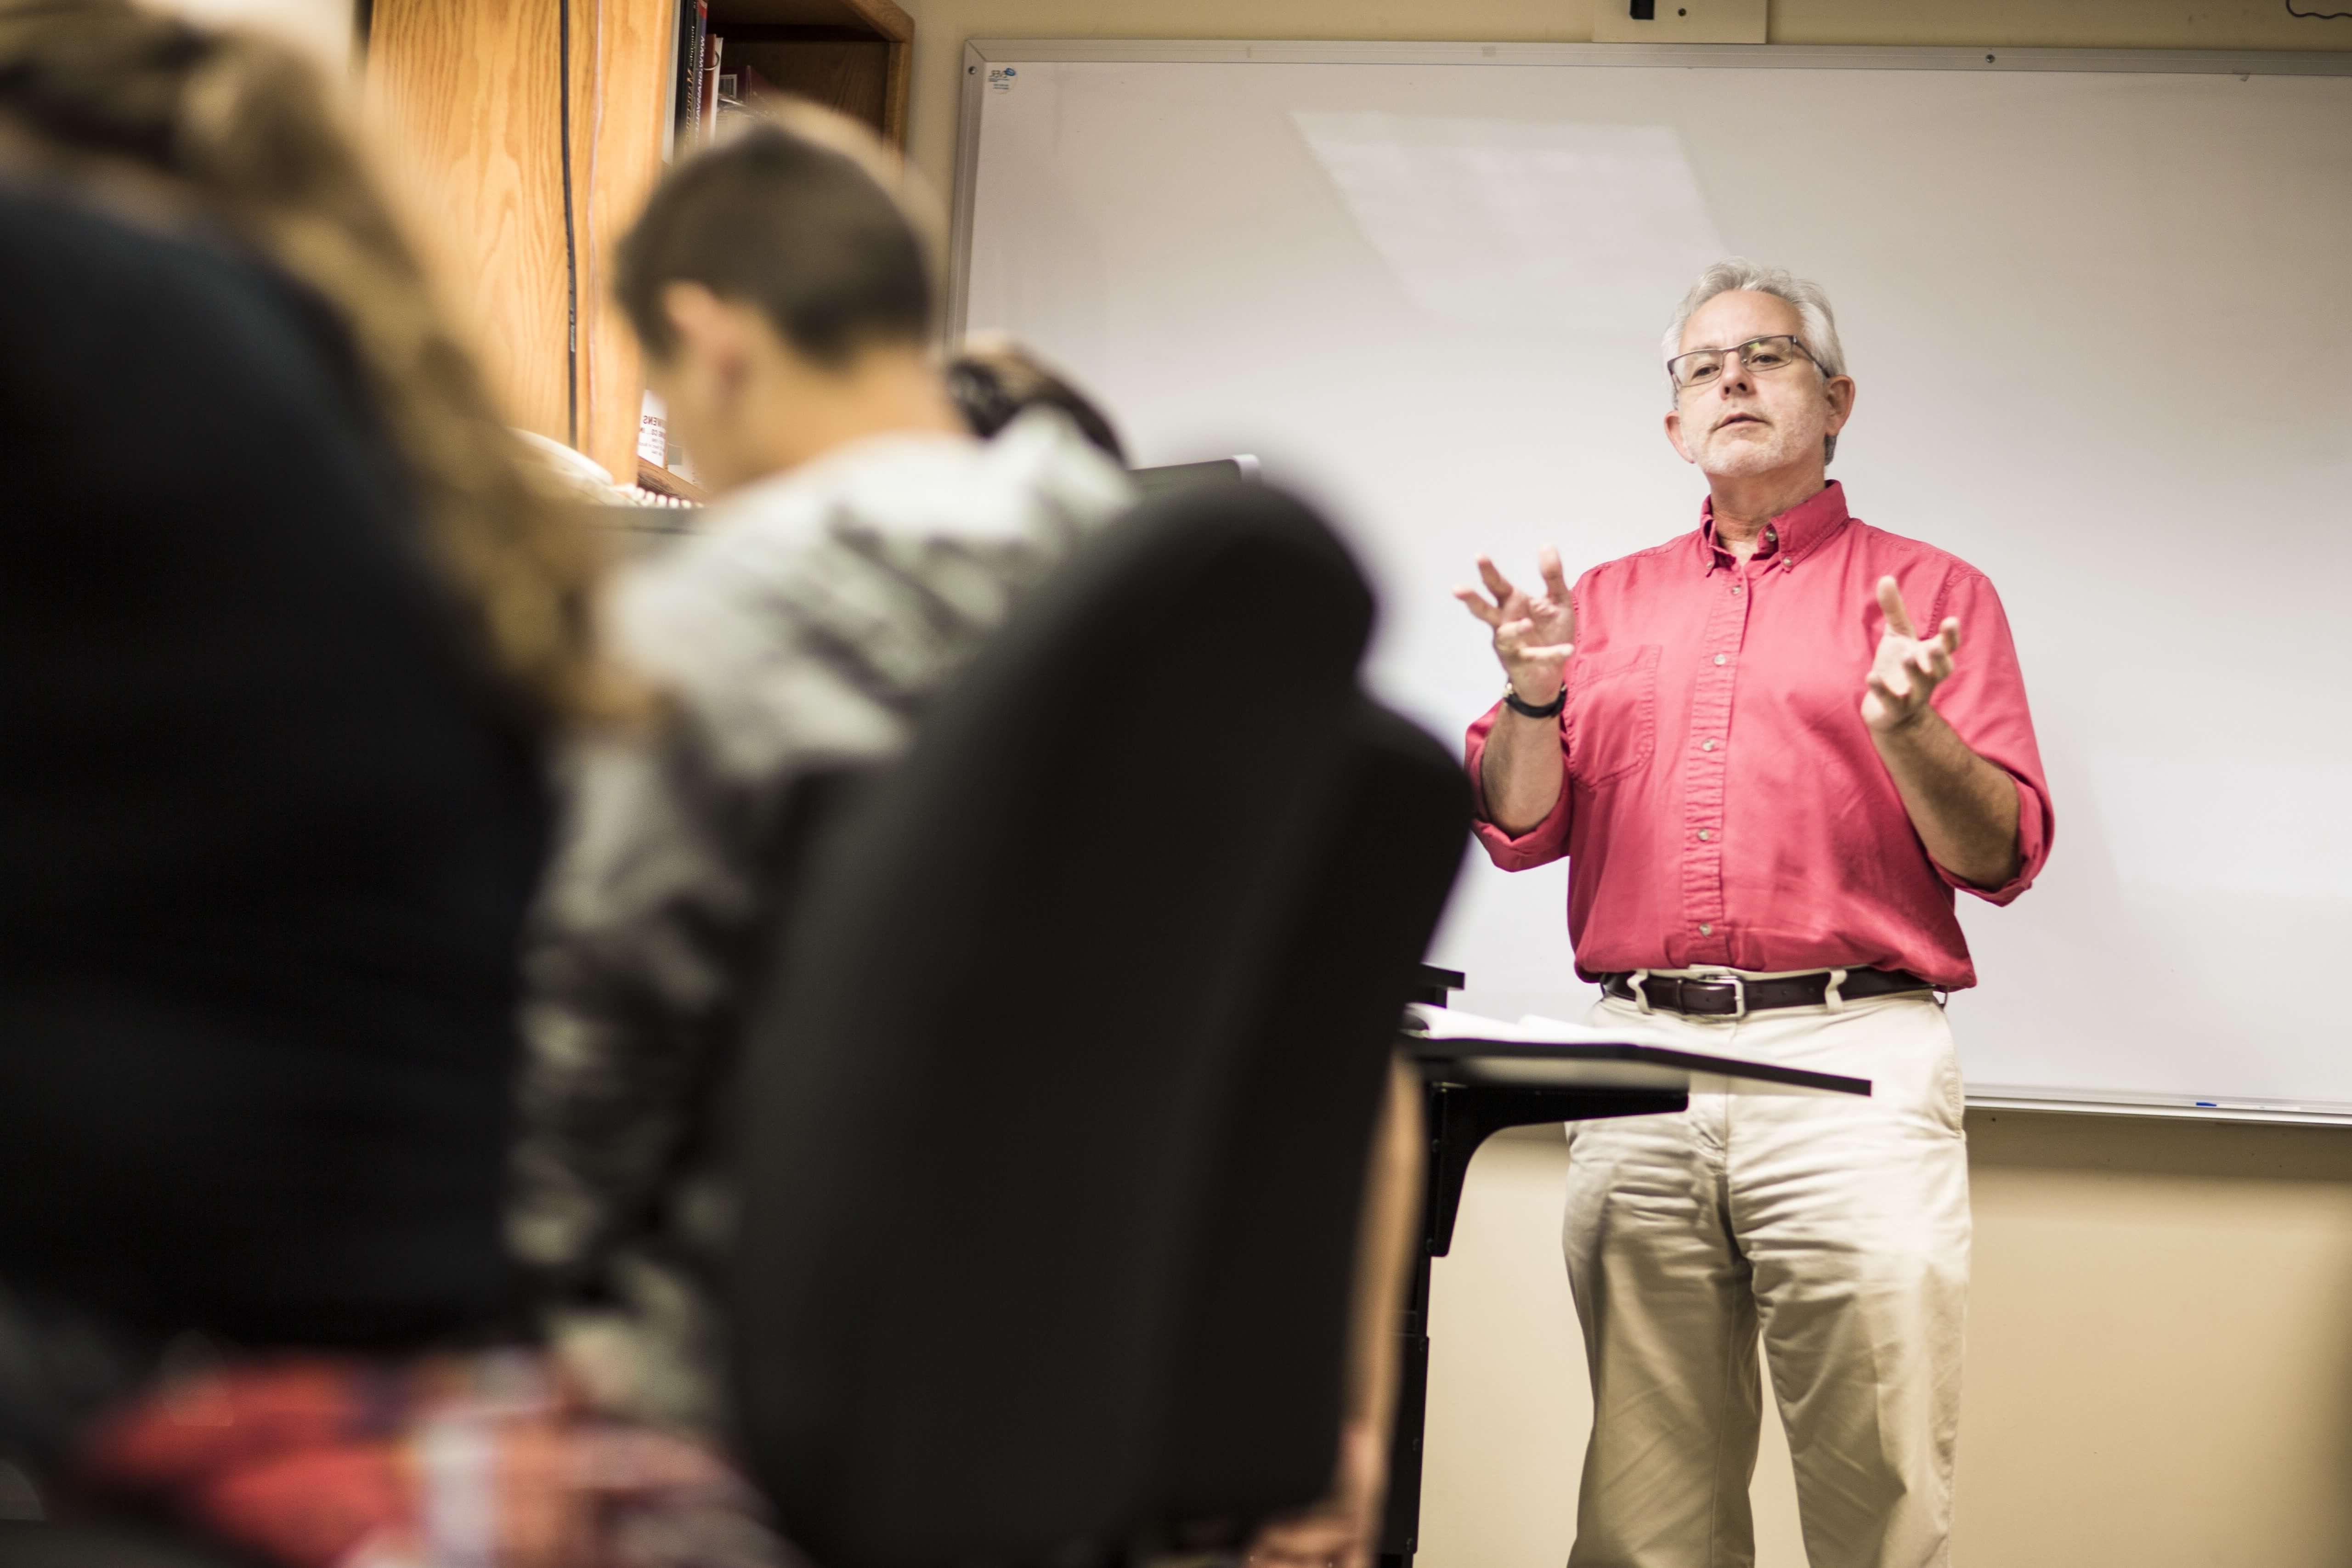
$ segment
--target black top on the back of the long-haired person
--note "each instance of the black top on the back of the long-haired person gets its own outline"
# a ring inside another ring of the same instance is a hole
[[[325,310],[0,188],[0,1281],[494,1314],[546,816]]]

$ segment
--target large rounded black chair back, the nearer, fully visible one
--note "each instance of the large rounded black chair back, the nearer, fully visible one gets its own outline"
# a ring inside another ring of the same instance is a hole
[[[1296,501],[1145,503],[814,856],[746,1039],[734,1321],[746,1458],[828,1568],[1108,1559],[1167,1502],[1221,1121],[1369,625]]]

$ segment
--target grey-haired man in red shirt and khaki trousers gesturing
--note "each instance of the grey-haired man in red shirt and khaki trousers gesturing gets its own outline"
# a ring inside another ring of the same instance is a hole
[[[1875,1081],[1691,1095],[1569,1131],[1592,1368],[1571,1568],[1755,1561],[1757,1326],[1813,1568],[1950,1561],[1969,1291],[1952,891],[2009,903],[2051,844],[2002,602],[1828,480],[1853,411],[1816,284],[1726,261],[1665,339],[1696,534],[1536,592],[1458,597],[1510,679],[1470,726],[1479,839],[1569,858],[1592,1020]],[[1912,611],[1919,611],[1917,618]]]

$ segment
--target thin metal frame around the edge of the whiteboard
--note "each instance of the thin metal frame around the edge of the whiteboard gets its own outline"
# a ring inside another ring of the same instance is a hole
[[[2300,49],[2004,49],[1877,45],[1482,45],[1190,38],[971,38],[955,115],[955,207],[948,226],[948,341],[964,336],[971,284],[971,221],[981,172],[981,108],[988,66],[1200,63],[1200,66],[1684,66],[1689,71],[2070,71],[2136,75],[2352,75],[2352,52]],[[2086,1117],[2171,1117],[2192,1121],[2284,1121],[2352,1126],[2352,1105],[2291,1100],[2190,1100],[1985,1084],[1973,1110],[2065,1112]]]

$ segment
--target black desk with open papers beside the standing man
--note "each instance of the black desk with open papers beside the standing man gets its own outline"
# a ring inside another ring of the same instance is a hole
[[[1449,969],[1425,969],[1423,978],[1428,987],[1421,999],[1437,1006],[1444,1006],[1449,990],[1463,985],[1463,976]],[[1381,1568],[1409,1568],[1421,1547],[1421,1439],[1430,1413],[1430,1272],[1454,1248],[1463,1178],[1470,1173],[1470,1157],[1491,1133],[1505,1126],[1679,1112],[1689,1107],[1693,1091],[1870,1093],[1870,1079],[1663,1046],[1531,1046],[1501,1039],[1406,1037],[1402,1048],[1421,1065],[1430,1168],[1421,1258],[1404,1300],[1404,1375],[1397,1385],[1397,1429],[1390,1439]]]

